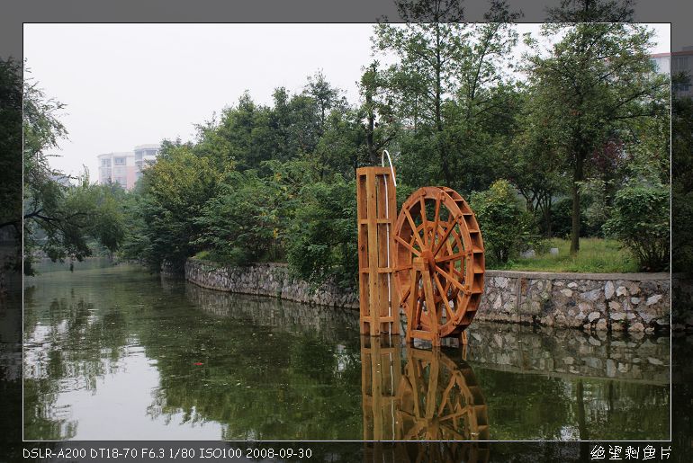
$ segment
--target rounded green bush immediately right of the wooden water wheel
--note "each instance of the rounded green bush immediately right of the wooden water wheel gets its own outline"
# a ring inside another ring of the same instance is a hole
[[[499,180],[489,190],[473,193],[470,203],[482,229],[489,263],[507,263],[537,240],[534,219],[509,182]]]

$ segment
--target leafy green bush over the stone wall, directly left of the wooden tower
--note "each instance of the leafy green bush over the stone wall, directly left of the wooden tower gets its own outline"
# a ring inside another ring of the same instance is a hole
[[[356,182],[306,184],[288,233],[288,261],[293,271],[314,284],[334,279],[356,286],[358,272]]]

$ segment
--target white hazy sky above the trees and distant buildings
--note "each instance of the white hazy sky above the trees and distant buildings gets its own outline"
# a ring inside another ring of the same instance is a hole
[[[651,27],[653,53],[670,51],[670,25]],[[321,69],[357,102],[372,31],[372,24],[25,24],[24,58],[29,76],[67,105],[60,119],[69,138],[51,164],[67,174],[86,165],[94,181],[97,155],[191,139],[193,124],[246,90],[270,104],[276,87],[300,93]]]

